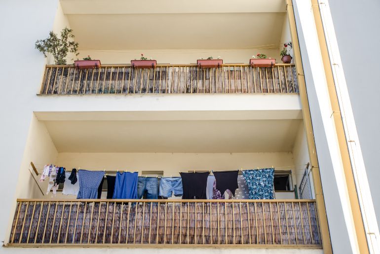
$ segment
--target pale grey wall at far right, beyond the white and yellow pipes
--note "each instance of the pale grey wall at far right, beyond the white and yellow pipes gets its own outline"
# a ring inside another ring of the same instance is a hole
[[[372,46],[380,41],[378,33],[380,1],[366,0],[358,7],[357,2],[353,0],[330,0],[329,5],[372,201],[380,227],[380,170],[377,160],[380,154],[380,86],[377,79],[380,62],[374,51],[376,46]],[[347,18],[352,15],[354,19]]]

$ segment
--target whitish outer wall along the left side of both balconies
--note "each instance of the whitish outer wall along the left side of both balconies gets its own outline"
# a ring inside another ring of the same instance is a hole
[[[18,194],[16,184],[33,117],[32,98],[44,69],[45,59],[34,49],[35,42],[52,29],[57,3],[57,0],[3,0],[0,3],[0,31],[2,35],[9,35],[0,40],[0,154],[4,174],[0,192],[6,193],[1,196],[1,241],[8,238]]]

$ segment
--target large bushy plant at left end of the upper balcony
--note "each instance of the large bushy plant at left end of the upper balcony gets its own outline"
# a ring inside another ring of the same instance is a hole
[[[60,37],[50,31],[49,37],[37,40],[35,46],[45,57],[47,53],[52,54],[56,65],[65,65],[67,54],[76,53],[78,50],[78,43],[74,37],[73,30],[65,27]],[[78,54],[76,53],[76,56]]]

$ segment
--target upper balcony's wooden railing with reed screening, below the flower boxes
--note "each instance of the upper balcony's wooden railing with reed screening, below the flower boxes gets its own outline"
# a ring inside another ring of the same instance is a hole
[[[40,90],[40,95],[160,93],[298,93],[298,83],[293,64],[267,68],[223,65],[210,69],[196,65],[157,65],[154,69],[102,65],[82,70],[72,65],[48,65]]]

